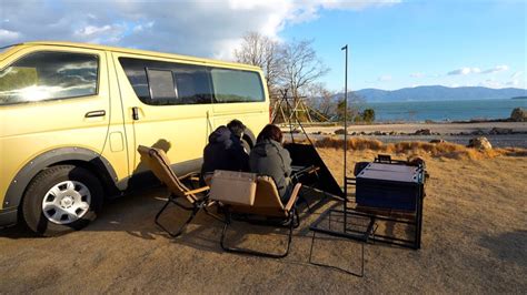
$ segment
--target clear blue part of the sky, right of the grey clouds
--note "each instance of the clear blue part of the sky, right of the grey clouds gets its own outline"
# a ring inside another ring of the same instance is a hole
[[[316,21],[289,26],[281,35],[314,39],[332,69],[324,79],[330,89],[342,88],[344,43],[350,49],[351,89],[525,88],[526,14],[520,1],[411,1],[322,11]]]

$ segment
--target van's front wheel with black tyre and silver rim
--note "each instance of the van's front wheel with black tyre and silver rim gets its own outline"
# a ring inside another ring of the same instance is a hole
[[[53,236],[80,230],[97,217],[103,191],[83,167],[58,165],[30,182],[22,201],[23,218],[32,231]]]

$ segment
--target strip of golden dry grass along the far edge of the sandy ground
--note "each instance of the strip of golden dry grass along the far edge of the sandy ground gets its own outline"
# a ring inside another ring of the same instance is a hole
[[[342,149],[344,140],[337,138],[324,138],[315,142],[317,148]],[[444,142],[444,143],[428,143],[428,142],[398,142],[398,143],[382,143],[378,140],[352,138],[348,140],[348,149],[352,151],[375,151],[389,154],[404,155],[428,155],[432,157],[447,159],[469,159],[483,160],[493,159],[500,155],[506,156],[527,156],[526,149],[506,148],[479,151],[467,148],[461,144]]]

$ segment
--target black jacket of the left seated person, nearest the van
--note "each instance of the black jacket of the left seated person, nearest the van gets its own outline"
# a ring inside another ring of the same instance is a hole
[[[249,155],[240,139],[226,126],[219,126],[209,135],[203,150],[201,175],[215,170],[249,171]]]

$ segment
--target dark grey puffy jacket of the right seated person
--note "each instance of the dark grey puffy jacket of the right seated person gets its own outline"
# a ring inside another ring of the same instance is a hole
[[[271,176],[282,202],[287,202],[291,191],[291,157],[289,152],[274,140],[262,140],[250,151],[250,171]]]

